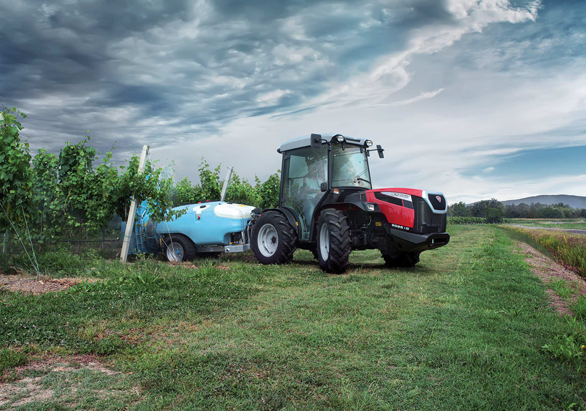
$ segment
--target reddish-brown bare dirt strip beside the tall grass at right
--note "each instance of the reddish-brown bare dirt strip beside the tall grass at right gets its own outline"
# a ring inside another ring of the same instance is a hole
[[[529,264],[533,274],[541,278],[541,281],[546,285],[553,280],[561,278],[568,282],[568,286],[573,286],[576,294],[574,297],[570,297],[567,301],[557,295],[553,289],[548,288],[546,290],[552,308],[556,309],[560,315],[572,315],[573,312],[570,305],[580,295],[586,295],[586,281],[575,272],[557,264],[557,262],[551,260],[551,258],[548,258],[541,252],[535,250],[535,248],[531,247],[529,244],[521,241],[515,241],[515,244],[521,248],[525,255],[525,261]]]

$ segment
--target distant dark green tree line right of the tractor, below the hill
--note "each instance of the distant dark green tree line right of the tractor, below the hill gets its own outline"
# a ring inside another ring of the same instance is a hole
[[[572,208],[567,204],[520,203],[506,205],[491,198],[466,205],[463,201],[448,207],[451,217],[481,217],[490,222],[503,218],[585,218],[586,208]]]

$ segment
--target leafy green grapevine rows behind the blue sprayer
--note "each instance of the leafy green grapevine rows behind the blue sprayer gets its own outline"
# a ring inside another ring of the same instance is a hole
[[[32,156],[20,135],[25,118],[15,107],[0,110],[0,235],[29,242],[30,233],[37,244],[52,244],[64,236],[81,240],[107,227],[113,215],[126,219],[132,196],[139,203],[147,201],[151,218],[157,221],[182,214],[172,210],[180,204],[220,198],[220,166],[210,169],[205,160],[199,167],[199,184],[187,178],[173,184],[172,177],[163,177],[163,169],[150,160],[144,173],[138,173],[137,155],[121,166],[113,163],[112,151],[100,160],[88,135],[78,143],[66,143],[59,154],[40,149]],[[264,182],[255,177],[254,186],[233,174],[226,201],[274,206],[279,184],[278,172]]]

